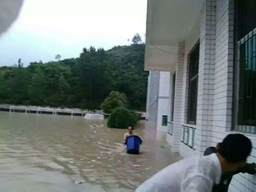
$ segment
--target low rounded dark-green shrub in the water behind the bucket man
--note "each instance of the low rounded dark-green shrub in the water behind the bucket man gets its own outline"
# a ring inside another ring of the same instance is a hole
[[[127,129],[129,126],[135,127],[139,120],[135,111],[127,108],[116,108],[108,118],[108,127]]]

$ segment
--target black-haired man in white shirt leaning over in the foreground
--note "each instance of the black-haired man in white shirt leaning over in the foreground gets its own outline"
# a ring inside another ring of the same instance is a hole
[[[210,156],[189,157],[167,166],[136,192],[211,192],[212,186],[220,183],[222,173],[246,164],[252,143],[243,134],[229,134],[216,150]]]

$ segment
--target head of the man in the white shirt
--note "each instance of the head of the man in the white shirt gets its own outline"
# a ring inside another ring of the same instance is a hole
[[[252,142],[243,134],[228,134],[222,143],[218,143],[216,150],[223,171],[234,172],[245,166],[252,151]]]

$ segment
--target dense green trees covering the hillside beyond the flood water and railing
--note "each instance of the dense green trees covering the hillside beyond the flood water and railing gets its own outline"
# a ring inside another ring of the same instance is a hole
[[[0,68],[0,102],[99,109],[111,91],[127,95],[129,108],[145,110],[148,72],[144,44],[108,51],[84,48],[79,58]]]

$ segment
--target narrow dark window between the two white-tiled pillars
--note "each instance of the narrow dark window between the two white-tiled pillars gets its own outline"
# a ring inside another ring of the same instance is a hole
[[[199,44],[189,55],[188,124],[196,124]]]

